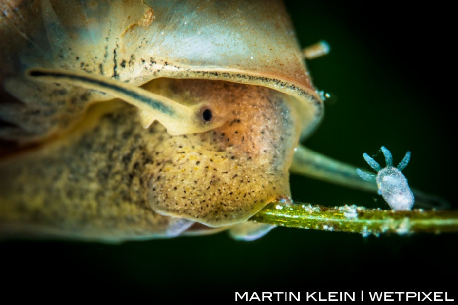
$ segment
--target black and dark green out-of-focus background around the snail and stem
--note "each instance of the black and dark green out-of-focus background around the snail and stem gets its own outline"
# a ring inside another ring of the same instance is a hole
[[[456,208],[454,10],[373,1],[286,6],[302,46],[331,45],[330,55],[308,63],[315,85],[333,98],[306,145],[365,168],[363,152],[384,145],[397,163],[411,151],[410,185]],[[377,195],[320,181],[292,176],[291,185],[302,202],[387,208]],[[448,291],[458,300],[457,237],[277,228],[248,243],[224,232],[121,245],[16,240],[0,243],[0,287],[17,300],[90,300],[95,292],[149,304],[230,302],[235,291],[362,289]]]

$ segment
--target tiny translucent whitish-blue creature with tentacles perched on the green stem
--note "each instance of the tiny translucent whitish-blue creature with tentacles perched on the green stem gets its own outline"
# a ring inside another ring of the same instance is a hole
[[[371,175],[363,172],[360,169],[356,170],[356,173],[367,181],[372,181],[374,178],[379,188],[379,195],[382,195],[383,199],[393,210],[411,210],[414,205],[414,195],[410,191],[407,179],[402,174],[402,170],[407,166],[410,160],[410,152],[406,152],[402,161],[398,164],[397,168],[393,166],[393,157],[391,152],[382,146],[380,150],[385,155],[386,167],[381,168],[379,163],[369,157],[367,153],[363,154],[364,160],[370,165],[375,171],[376,175]]]

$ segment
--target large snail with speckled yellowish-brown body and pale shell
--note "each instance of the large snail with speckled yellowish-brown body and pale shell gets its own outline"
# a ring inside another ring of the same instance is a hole
[[[1,236],[271,228],[246,220],[323,115],[282,3],[0,3]]]

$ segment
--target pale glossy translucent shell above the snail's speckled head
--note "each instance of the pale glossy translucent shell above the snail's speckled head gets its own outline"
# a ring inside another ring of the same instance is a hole
[[[158,77],[267,86],[296,97],[303,135],[313,131],[323,114],[278,1],[42,0],[18,5],[2,20],[7,28],[2,41],[19,40],[3,51],[2,78],[10,76],[7,91],[26,107],[3,107],[2,118],[22,128],[0,134],[3,138],[27,142],[58,132],[91,101],[110,98],[26,81],[24,70],[36,67],[85,71],[135,86]]]

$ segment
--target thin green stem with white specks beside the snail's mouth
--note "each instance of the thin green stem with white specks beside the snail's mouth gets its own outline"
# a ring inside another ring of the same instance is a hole
[[[250,221],[302,229],[360,233],[458,232],[458,210],[393,211],[355,205],[324,207],[278,199],[260,210]]]

